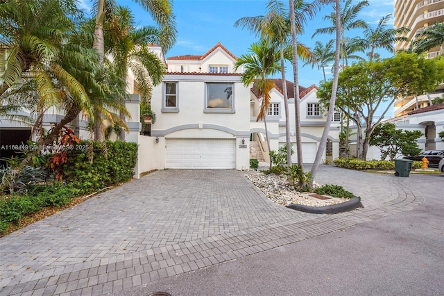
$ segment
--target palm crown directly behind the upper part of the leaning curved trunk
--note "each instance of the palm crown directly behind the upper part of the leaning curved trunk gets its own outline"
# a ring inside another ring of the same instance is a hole
[[[348,66],[348,54],[346,44],[348,43],[348,39],[345,38],[345,31],[349,31],[355,28],[368,28],[368,25],[366,22],[364,22],[362,19],[356,19],[359,12],[366,6],[368,6],[368,1],[359,1],[356,5],[352,6],[353,0],[345,0],[343,9],[341,10],[341,26],[340,33],[341,33],[341,51],[343,52],[343,65]],[[324,20],[330,20],[332,22],[332,26],[325,27],[325,28],[318,28],[316,31],[314,31],[314,34],[312,37],[318,35],[318,34],[332,34],[336,31],[336,13],[331,13],[330,15],[326,15],[323,17]]]

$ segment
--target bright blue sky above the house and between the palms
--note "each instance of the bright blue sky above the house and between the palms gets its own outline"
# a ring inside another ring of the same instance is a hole
[[[282,0],[282,2],[288,5],[287,0]],[[358,0],[354,1],[354,3],[358,2]],[[381,17],[389,13],[393,15],[394,2],[394,0],[369,0],[370,6],[361,10],[359,18],[376,26]],[[89,11],[91,3],[91,0],[80,0],[79,6]],[[135,19],[140,26],[153,24],[151,16],[134,1],[117,0],[117,3],[133,10]],[[205,54],[217,42],[221,42],[234,56],[248,53],[248,47],[257,41],[257,37],[248,30],[234,28],[234,22],[241,17],[264,15],[266,3],[268,0],[174,0],[173,10],[176,15],[178,38],[176,44],[165,56],[168,58],[184,54]],[[305,26],[305,33],[298,37],[299,42],[313,47],[316,41],[326,43],[332,39],[334,36],[327,34],[311,38],[316,28],[331,26],[329,22],[323,20],[323,17],[330,15],[332,10],[331,4],[324,6],[316,17]],[[359,31],[352,32],[350,37],[357,34]],[[381,51],[379,54],[382,57],[389,56],[388,53]],[[300,63],[298,69],[299,83],[302,86],[318,85],[319,81],[323,79],[323,74],[317,67],[314,69],[311,66],[302,67],[302,63]],[[291,67],[288,67],[287,79],[293,80],[292,77],[293,71]]]

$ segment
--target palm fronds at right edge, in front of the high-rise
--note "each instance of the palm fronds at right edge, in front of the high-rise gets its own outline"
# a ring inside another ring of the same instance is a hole
[[[416,34],[416,40],[413,40],[413,51],[422,54],[434,47],[439,47],[441,54],[443,53],[444,44],[444,22],[436,22],[432,26],[427,26],[424,31]]]

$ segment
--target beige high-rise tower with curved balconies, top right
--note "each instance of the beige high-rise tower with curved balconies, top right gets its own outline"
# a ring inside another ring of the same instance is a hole
[[[444,0],[395,0],[395,28],[405,26],[411,31],[405,36],[413,40],[415,35],[424,31],[427,26],[436,22],[444,22]],[[396,42],[395,50],[409,49],[410,42]],[[429,58],[443,54],[440,47],[429,51]],[[429,96],[404,97],[395,101],[395,117],[429,105],[429,99],[441,97],[444,94],[444,83],[438,85],[435,92]]]

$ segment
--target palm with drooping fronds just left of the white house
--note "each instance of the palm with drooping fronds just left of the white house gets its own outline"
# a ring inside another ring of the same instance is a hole
[[[135,19],[128,8],[117,6],[110,19],[109,40],[106,40],[106,52],[112,56],[117,74],[126,81],[128,70],[133,73],[137,87],[144,101],[151,99],[153,85],[162,81],[165,67],[162,60],[150,49],[150,45],[160,41],[160,32],[156,28],[144,26],[135,28]],[[124,106],[126,97],[121,97]],[[120,113],[121,122],[126,114]],[[120,140],[125,140],[125,133],[119,133]]]

